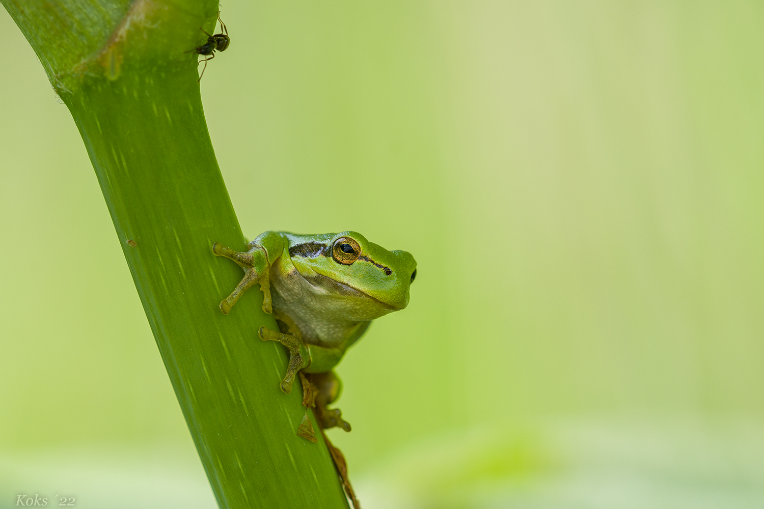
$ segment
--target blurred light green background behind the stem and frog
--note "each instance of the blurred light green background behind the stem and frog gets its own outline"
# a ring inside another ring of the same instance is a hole
[[[760,2],[221,8],[202,95],[245,234],[419,263],[338,368],[366,509],[764,505]],[[215,507],[5,11],[0,46],[0,507]]]

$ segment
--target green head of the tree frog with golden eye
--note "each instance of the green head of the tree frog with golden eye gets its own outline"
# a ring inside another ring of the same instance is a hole
[[[316,237],[312,246],[317,246]],[[333,296],[342,295],[348,304],[359,301],[358,311],[363,308],[363,314],[369,315],[364,317],[366,320],[406,308],[409,287],[416,277],[416,261],[410,253],[388,251],[354,231],[321,237],[318,244],[321,248],[312,248],[309,256],[300,256],[290,249],[300,274]],[[373,310],[360,302],[368,298],[374,301]]]

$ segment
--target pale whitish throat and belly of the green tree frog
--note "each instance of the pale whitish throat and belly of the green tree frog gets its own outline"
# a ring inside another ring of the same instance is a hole
[[[291,264],[288,269],[277,265],[281,264],[274,264],[270,273],[273,307],[292,318],[306,343],[347,348],[371,320],[393,311],[325,276],[316,275],[312,282]]]

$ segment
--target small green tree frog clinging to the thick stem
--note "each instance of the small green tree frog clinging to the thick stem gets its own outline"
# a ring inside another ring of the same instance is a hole
[[[240,253],[220,243],[212,245],[212,253],[244,269],[244,278],[220,303],[221,311],[228,314],[241,295],[259,283],[263,311],[274,314],[279,330],[261,327],[257,335],[290,351],[281,390],[291,391],[299,372],[303,404],[314,407],[319,426],[350,431],[342,412],[327,408],[342,389],[332,368],[372,320],[409,304],[409,287],[416,277],[414,257],[406,251],[388,251],[354,231],[316,235],[267,231],[247,247]]]

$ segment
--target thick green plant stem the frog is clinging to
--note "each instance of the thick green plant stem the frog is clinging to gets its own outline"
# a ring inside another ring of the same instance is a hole
[[[261,293],[218,308],[241,270],[210,247],[244,237],[188,51],[216,2],[2,1],[82,134],[220,507],[347,507],[324,443],[296,436],[302,391],[280,391],[286,353],[257,338],[276,328]]]

